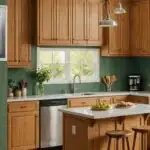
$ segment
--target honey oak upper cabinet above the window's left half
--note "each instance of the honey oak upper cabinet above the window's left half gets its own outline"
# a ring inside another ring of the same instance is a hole
[[[71,44],[71,0],[37,0],[37,45]]]

